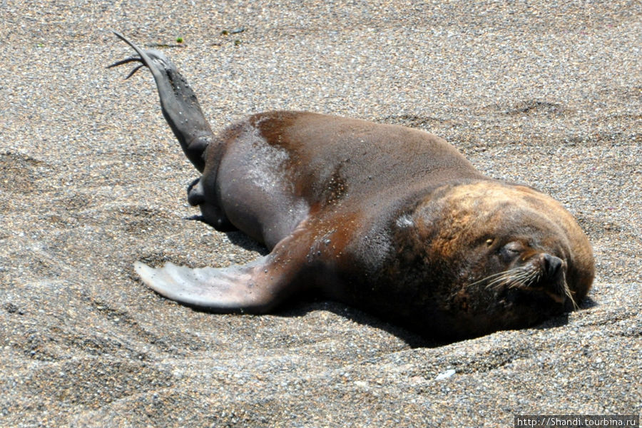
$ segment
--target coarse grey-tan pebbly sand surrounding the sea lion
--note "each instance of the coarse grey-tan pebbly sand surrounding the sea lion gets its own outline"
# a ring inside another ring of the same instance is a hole
[[[641,414],[641,23],[620,0],[1,1],[0,426]],[[442,346],[335,302],[254,317],[164,300],[134,261],[223,266],[260,248],[190,220],[197,173],[151,75],[106,70],[131,54],[111,29],[182,37],[163,49],[213,128],[274,108],[400,123],[553,195],[593,243],[590,298]]]

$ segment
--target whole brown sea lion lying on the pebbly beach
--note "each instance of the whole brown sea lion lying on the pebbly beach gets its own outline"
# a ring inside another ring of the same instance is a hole
[[[591,287],[591,245],[555,200],[479,173],[424,131],[268,111],[213,133],[174,64],[142,50],[163,116],[202,173],[188,200],[217,230],[270,250],[253,263],[136,263],[159,294],[213,312],[265,313],[302,292],[456,340],[572,310]],[[129,77],[128,76],[128,77]]]

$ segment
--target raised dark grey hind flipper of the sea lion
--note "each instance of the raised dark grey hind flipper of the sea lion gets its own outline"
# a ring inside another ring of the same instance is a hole
[[[196,169],[203,172],[203,168],[205,168],[205,149],[210,141],[213,140],[214,134],[205,116],[203,116],[203,111],[200,110],[194,91],[163,52],[156,49],[143,51],[143,49],[128,41],[122,34],[118,34],[116,31],[113,34],[116,34],[119,39],[131,46],[139,56],[123,59],[111,64],[108,68],[131,62],[141,63],[129,73],[127,78],[131,77],[133,73],[136,73],[143,66],[150,69],[156,81],[165,120],[169,123],[176,138],[178,138],[185,156],[188,157]]]

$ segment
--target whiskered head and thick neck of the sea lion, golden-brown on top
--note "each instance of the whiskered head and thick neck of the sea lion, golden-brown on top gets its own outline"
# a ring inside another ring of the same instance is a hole
[[[559,203],[526,186],[446,185],[397,224],[410,238],[398,254],[413,259],[406,273],[437,335],[534,325],[576,308],[593,282],[586,235]]]

